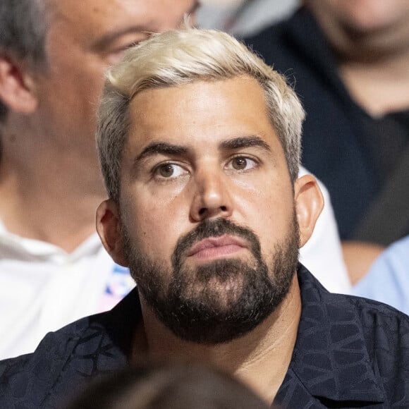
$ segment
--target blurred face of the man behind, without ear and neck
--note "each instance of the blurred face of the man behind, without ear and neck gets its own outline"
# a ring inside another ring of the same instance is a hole
[[[37,78],[37,133],[71,166],[98,173],[95,113],[106,68],[152,32],[178,28],[197,1],[44,1],[49,69]]]

